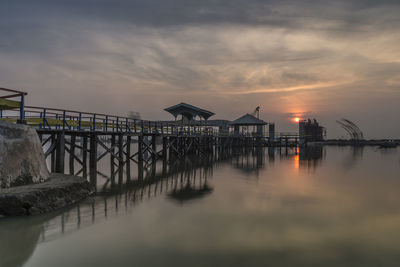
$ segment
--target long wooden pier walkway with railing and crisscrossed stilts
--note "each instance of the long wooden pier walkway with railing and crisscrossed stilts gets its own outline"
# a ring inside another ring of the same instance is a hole
[[[269,140],[262,135],[220,133],[218,127],[139,120],[128,117],[25,106],[25,92],[0,88],[0,120],[37,129],[52,172],[88,177],[96,185],[98,162],[109,158],[110,181],[130,177],[131,163],[143,168],[157,160],[203,156],[235,147],[297,145],[294,135]],[[17,100],[15,100],[17,99]]]

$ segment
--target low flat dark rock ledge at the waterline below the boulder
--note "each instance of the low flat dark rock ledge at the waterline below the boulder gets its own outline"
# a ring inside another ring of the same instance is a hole
[[[0,215],[39,215],[87,198],[95,192],[81,177],[53,173],[44,183],[0,189]]]

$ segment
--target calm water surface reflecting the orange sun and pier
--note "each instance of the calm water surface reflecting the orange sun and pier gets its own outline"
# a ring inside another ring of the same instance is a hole
[[[2,219],[0,266],[398,266],[398,149],[210,161],[176,162],[168,177],[156,166],[145,184]]]

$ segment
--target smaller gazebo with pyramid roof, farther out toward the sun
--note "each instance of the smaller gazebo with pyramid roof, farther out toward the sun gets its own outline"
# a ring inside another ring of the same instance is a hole
[[[262,136],[264,133],[264,125],[267,124],[267,122],[260,120],[251,114],[246,114],[231,122],[231,125],[233,126],[233,133],[235,135],[244,134]],[[252,132],[249,130],[251,126],[253,126]],[[256,131],[254,131],[254,128],[256,128]]]

